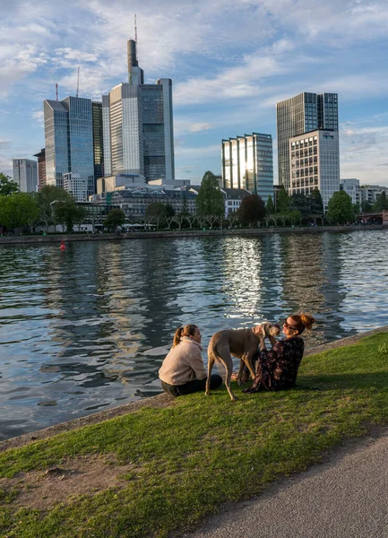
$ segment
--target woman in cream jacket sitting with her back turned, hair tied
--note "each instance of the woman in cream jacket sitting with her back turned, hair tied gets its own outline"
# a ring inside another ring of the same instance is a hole
[[[159,370],[161,386],[172,396],[204,391],[207,372],[203,366],[201,332],[196,325],[179,327],[172,348]],[[211,388],[218,388],[222,377],[211,376]]]

